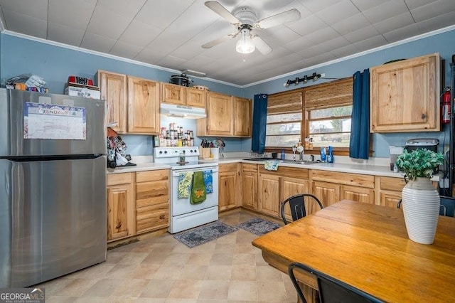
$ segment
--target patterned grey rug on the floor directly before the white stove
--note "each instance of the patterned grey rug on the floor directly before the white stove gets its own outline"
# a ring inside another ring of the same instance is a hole
[[[220,238],[223,235],[228,235],[235,230],[238,230],[238,228],[226,225],[220,221],[215,221],[213,223],[198,226],[197,228],[182,231],[181,233],[176,233],[173,235],[173,238],[176,238],[176,240],[185,244],[188,248],[194,248],[200,244],[208,243],[211,240]]]

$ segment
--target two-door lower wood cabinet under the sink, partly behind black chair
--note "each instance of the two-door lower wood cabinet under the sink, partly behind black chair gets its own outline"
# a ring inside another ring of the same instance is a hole
[[[310,193],[308,169],[278,166],[267,171],[259,166],[257,181],[257,211],[279,218],[280,204],[297,193]]]

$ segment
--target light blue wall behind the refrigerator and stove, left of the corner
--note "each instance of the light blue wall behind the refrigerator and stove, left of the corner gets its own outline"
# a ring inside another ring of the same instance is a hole
[[[23,73],[40,75],[46,81],[50,92],[63,94],[69,75],[94,79],[97,70],[109,70],[141,78],[168,82],[171,75],[179,75],[177,70],[161,70],[153,66],[125,62],[103,55],[41,43],[38,41],[19,38],[5,33],[0,35],[0,77],[8,79]],[[227,95],[242,96],[242,89],[237,85],[204,80],[191,77],[193,85],[205,85],[211,91]],[[196,133],[196,120],[168,118],[161,116],[161,126],[176,122],[184,129],[193,129]],[[153,153],[153,138],[146,135],[124,134],[122,139],[127,144],[129,154],[149,155]],[[210,138],[208,138],[210,139]],[[196,138],[195,144],[200,144],[202,138]],[[225,151],[249,150],[245,139],[226,139]]]

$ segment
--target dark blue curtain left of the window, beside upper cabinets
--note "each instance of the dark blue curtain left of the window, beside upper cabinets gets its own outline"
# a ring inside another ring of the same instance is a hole
[[[259,153],[265,148],[265,129],[267,127],[267,94],[255,95],[253,103],[253,134],[251,150]]]

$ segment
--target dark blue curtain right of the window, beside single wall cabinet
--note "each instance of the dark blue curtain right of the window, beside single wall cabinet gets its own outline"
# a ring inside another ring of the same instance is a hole
[[[370,155],[370,70],[353,75],[353,115],[350,122],[349,156],[368,159]]]

